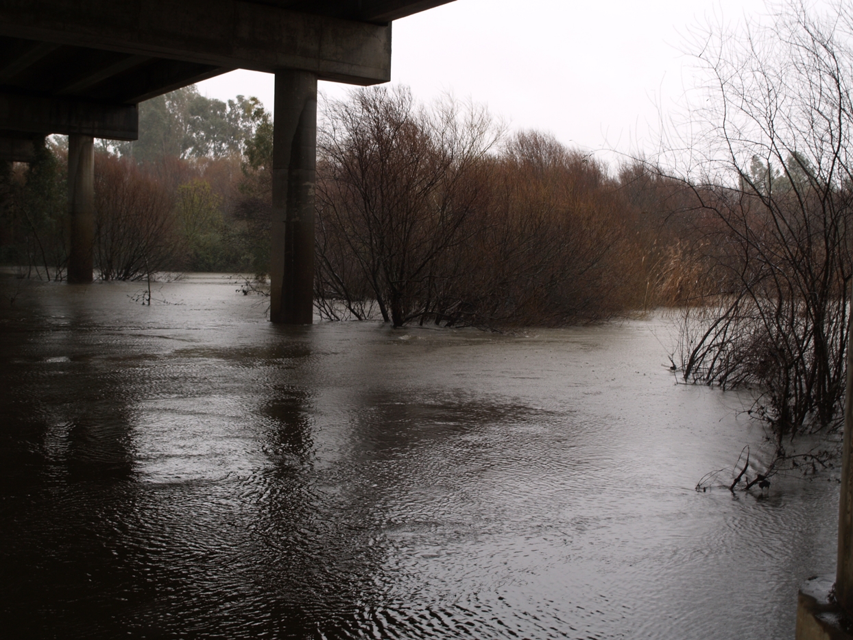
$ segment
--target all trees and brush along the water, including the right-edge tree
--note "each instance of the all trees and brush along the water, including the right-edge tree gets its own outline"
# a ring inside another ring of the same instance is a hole
[[[322,102],[316,308],[502,329],[683,309],[682,381],[761,391],[777,447],[838,425],[853,275],[853,53],[800,6],[698,38],[688,140],[606,166],[488,111],[404,87]],[[194,87],[145,102],[136,143],[96,156],[96,270],[252,274],[270,261],[272,122]],[[684,171],[680,166],[688,158]],[[0,261],[61,279],[61,138],[0,166]]]

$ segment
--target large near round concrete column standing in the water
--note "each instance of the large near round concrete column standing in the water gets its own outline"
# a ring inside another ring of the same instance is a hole
[[[314,316],[316,117],[316,74],[276,72],[270,260],[274,323],[310,324]]]

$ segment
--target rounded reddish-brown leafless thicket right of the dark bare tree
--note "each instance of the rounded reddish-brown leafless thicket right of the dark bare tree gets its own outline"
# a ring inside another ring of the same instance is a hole
[[[489,167],[490,202],[468,225],[444,316],[478,326],[560,325],[624,311],[638,291],[630,207],[589,155],[537,132]],[[445,305],[446,306],[446,305]]]

